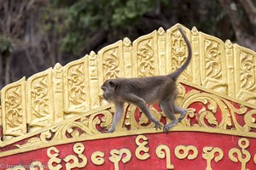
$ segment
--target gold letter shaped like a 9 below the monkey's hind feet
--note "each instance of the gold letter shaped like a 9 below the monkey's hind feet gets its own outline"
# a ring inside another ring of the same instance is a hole
[[[164,159],[166,157],[166,169],[174,169],[174,165],[172,165],[172,162],[171,162],[171,152],[167,145],[160,144],[156,148],[155,153],[156,153],[156,156],[158,156],[160,159]]]

